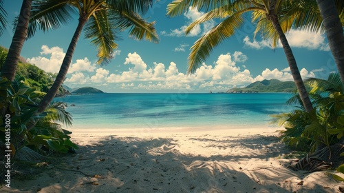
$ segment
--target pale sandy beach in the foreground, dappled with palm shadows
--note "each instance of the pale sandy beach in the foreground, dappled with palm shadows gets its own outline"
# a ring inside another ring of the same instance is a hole
[[[80,149],[13,192],[340,192],[331,172],[294,172],[276,128],[70,129]]]

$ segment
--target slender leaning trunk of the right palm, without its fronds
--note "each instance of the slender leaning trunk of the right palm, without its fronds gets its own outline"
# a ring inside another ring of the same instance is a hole
[[[290,48],[290,45],[286,38],[286,34],[284,34],[276,15],[269,14],[268,19],[270,19],[270,21],[272,22],[272,25],[279,35],[279,39],[281,40],[281,43],[283,45],[283,50],[287,57],[290,72],[292,73],[294,83],[297,85],[297,90],[299,91],[303,107],[305,108],[306,112],[310,112],[313,109],[313,106],[310,101],[310,97],[308,96],[307,90],[305,90],[305,85],[303,84],[299,68],[297,68],[297,62],[295,61],[294,54],[292,54],[292,49]]]

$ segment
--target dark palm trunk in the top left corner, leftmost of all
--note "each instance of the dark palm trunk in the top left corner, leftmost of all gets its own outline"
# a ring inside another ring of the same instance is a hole
[[[19,57],[24,41],[28,35],[28,26],[30,20],[32,0],[24,0],[21,5],[21,12],[19,14],[19,21],[17,23],[16,31],[14,32],[10,50],[3,64],[1,74],[8,80],[13,81],[18,68]]]

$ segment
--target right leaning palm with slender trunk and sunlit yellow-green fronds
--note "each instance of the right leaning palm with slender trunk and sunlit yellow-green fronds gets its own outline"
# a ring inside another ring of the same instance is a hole
[[[279,23],[279,19],[286,14],[290,5],[290,1],[287,0],[233,0],[233,1],[191,1],[191,0],[179,0],[169,3],[167,6],[167,15],[175,17],[182,14],[189,9],[189,6],[194,8],[204,8],[206,11],[209,8],[210,11],[206,12],[202,17],[193,21],[185,30],[186,34],[189,34],[193,28],[200,23],[211,19],[223,19],[210,31],[206,32],[200,39],[195,41],[191,47],[191,53],[189,54],[189,69],[188,73],[193,73],[202,65],[202,62],[208,57],[213,48],[222,43],[225,39],[235,34],[235,31],[239,29],[244,23],[243,14],[246,12],[252,12],[253,19],[259,19],[257,23],[257,29],[262,29],[267,25],[270,25],[277,33],[283,50],[286,54],[287,61],[292,73],[295,84],[303,101],[303,106],[307,112],[312,110],[312,103],[305,90],[305,85],[301,79],[301,74],[297,67],[297,63],[294,59],[294,55],[286,39],[286,26],[288,23]],[[195,7],[195,6],[197,7]],[[261,21],[261,22],[260,22]],[[288,20],[286,20],[288,21]],[[282,28],[283,27],[283,28]]]

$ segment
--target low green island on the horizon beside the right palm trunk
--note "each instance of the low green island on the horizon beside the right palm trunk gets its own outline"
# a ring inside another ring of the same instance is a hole
[[[231,88],[225,93],[294,92],[296,89],[293,81],[271,79],[251,83],[246,88]]]

